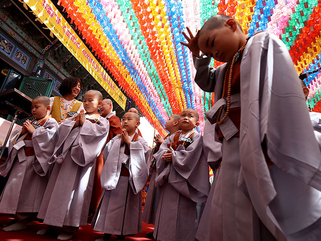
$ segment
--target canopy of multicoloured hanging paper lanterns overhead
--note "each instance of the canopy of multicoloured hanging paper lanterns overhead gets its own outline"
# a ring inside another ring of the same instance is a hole
[[[41,0],[49,2],[47,0]],[[25,1],[28,2],[28,1]],[[307,104],[321,112],[321,0],[59,0],[95,57],[118,87],[161,134],[173,113],[211,108],[214,94],[194,82],[192,55],[182,32],[196,33],[213,15],[234,17],[248,36],[267,31],[287,46],[310,94]],[[222,63],[213,61],[213,66]]]

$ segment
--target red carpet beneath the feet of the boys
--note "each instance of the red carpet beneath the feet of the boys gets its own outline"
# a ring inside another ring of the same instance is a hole
[[[31,222],[28,224],[28,228],[23,231],[18,232],[5,232],[2,230],[2,224],[5,222],[9,222],[12,218],[9,216],[0,216],[0,240],[1,241],[29,241],[29,240],[57,240],[55,237],[49,235],[37,235],[37,231],[39,229],[45,228],[46,225],[39,222]],[[142,232],[137,233],[134,236],[127,236],[126,241],[146,241],[153,240],[146,236],[146,232],[150,232],[153,230],[152,224],[147,224],[143,222],[142,224]],[[73,241],[94,241],[96,238],[101,237],[102,233],[94,231],[89,224],[87,226],[81,226],[79,231],[75,233],[73,237]],[[112,240],[116,239],[115,235],[112,235]]]

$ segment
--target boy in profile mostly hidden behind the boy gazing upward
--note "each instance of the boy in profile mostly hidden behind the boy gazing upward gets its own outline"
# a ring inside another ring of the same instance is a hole
[[[154,137],[156,146],[151,148],[149,150],[150,155],[148,155],[148,158],[150,161],[150,167],[149,167],[149,186],[147,191],[147,197],[144,205],[144,210],[142,213],[142,220],[146,223],[152,223],[155,224],[155,214],[159,202],[159,190],[158,188],[155,188],[155,177],[156,177],[156,162],[155,159],[152,157],[153,154],[158,152],[159,147],[164,143],[165,140],[167,140],[170,136],[174,135],[178,131],[181,130],[181,127],[179,125],[180,122],[180,115],[179,114],[172,114],[167,121],[165,125],[165,129],[168,130],[170,133],[163,139],[161,136],[156,135]],[[148,233],[147,235],[152,236],[152,232]]]

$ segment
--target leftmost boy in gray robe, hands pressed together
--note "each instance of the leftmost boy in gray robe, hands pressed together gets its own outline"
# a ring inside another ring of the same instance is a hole
[[[15,214],[17,222],[4,231],[27,228],[27,222],[36,218],[48,182],[48,161],[54,154],[58,139],[58,124],[50,118],[50,99],[33,99],[34,121],[26,121],[22,130],[13,133],[9,143],[9,157],[0,166],[0,175],[9,180],[0,197],[0,213]]]

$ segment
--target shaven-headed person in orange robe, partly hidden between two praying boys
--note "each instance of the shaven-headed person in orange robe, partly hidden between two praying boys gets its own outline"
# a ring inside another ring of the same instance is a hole
[[[112,101],[111,99],[104,99],[100,105],[100,115],[108,120],[109,123],[109,132],[107,136],[107,143],[113,139],[116,135],[121,134],[122,128],[120,119],[116,116],[116,111],[112,111]],[[97,211],[99,201],[102,194],[102,188],[100,184],[100,175],[102,168],[104,166],[104,157],[101,154],[97,157],[96,161],[96,171],[95,171],[95,180],[93,184],[92,196],[90,201],[89,214],[91,217]],[[89,220],[88,220],[89,221]]]

